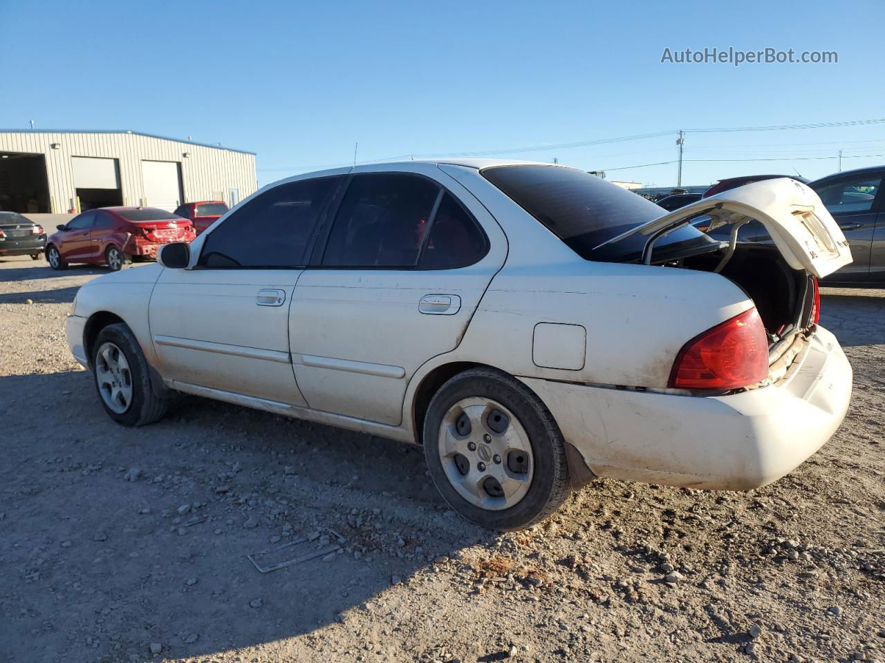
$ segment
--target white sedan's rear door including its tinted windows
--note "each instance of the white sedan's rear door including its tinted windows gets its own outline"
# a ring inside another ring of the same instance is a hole
[[[435,165],[353,172],[296,285],[293,368],[311,408],[396,425],[415,371],[458,347],[506,240]]]

